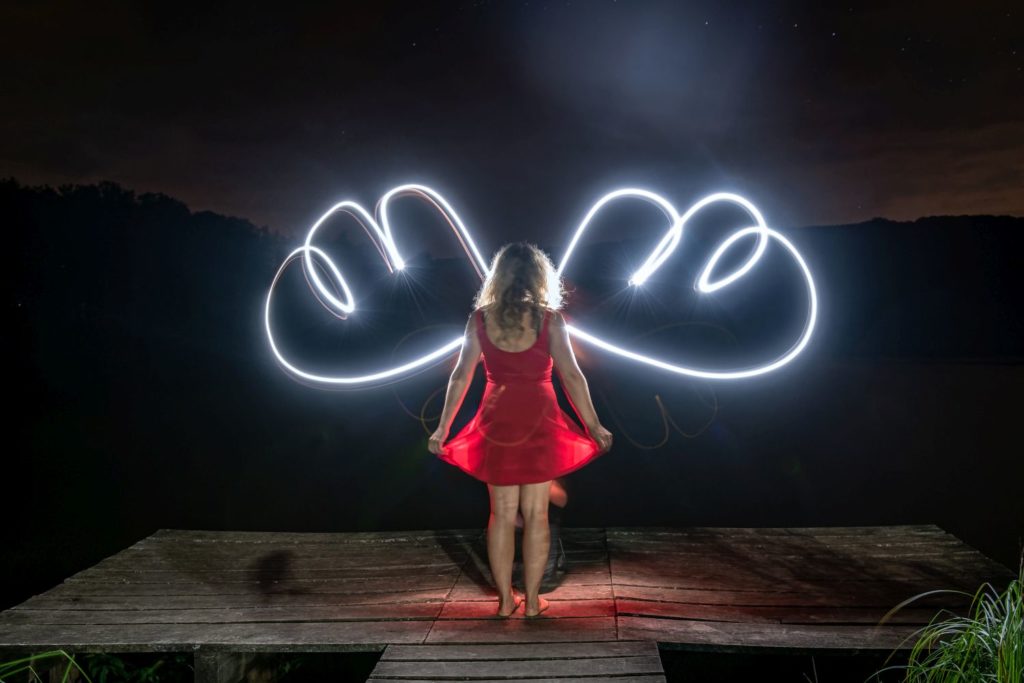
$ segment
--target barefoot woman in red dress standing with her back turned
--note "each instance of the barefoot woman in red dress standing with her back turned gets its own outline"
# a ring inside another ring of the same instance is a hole
[[[524,613],[537,616],[549,606],[539,593],[550,552],[552,480],[611,447],[611,433],[597,418],[558,312],[562,296],[561,279],[551,259],[535,245],[519,242],[498,251],[474,300],[440,424],[427,446],[487,483],[487,559],[499,593],[497,613],[503,617],[522,602],[522,596],[512,591],[517,511],[523,519]],[[444,443],[481,355],[487,383],[480,408]],[[552,368],[558,370],[586,432],[558,405]]]

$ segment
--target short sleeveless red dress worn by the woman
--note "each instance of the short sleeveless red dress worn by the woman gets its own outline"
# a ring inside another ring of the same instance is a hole
[[[558,404],[551,383],[550,317],[546,310],[534,346],[504,351],[487,338],[483,313],[477,311],[476,335],[487,383],[476,415],[442,446],[441,460],[481,481],[507,485],[548,481],[602,454],[589,430],[581,429]]]

